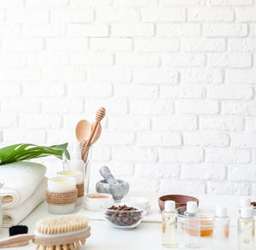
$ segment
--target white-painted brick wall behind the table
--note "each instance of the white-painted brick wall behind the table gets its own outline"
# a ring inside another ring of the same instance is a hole
[[[251,194],[255,21],[256,0],[1,0],[1,145],[73,142],[105,106],[92,186],[104,164],[132,190]]]

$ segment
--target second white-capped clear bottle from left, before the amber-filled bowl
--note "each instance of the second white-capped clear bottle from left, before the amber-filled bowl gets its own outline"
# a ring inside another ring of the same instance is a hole
[[[198,218],[197,202],[188,201],[184,216],[185,247],[198,248],[201,241],[201,219]]]

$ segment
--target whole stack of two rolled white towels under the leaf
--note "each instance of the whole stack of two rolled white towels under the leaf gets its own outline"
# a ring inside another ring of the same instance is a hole
[[[29,161],[0,166],[3,227],[20,223],[45,199],[46,167]]]

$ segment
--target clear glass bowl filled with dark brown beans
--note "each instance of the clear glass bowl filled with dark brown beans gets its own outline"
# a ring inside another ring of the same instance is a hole
[[[143,210],[132,206],[109,206],[102,212],[110,225],[120,230],[136,228],[143,220]]]

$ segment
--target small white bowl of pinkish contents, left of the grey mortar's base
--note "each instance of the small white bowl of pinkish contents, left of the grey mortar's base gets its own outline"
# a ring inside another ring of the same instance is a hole
[[[102,206],[111,206],[113,196],[105,193],[93,193],[84,196],[85,209],[89,211],[101,211]]]

